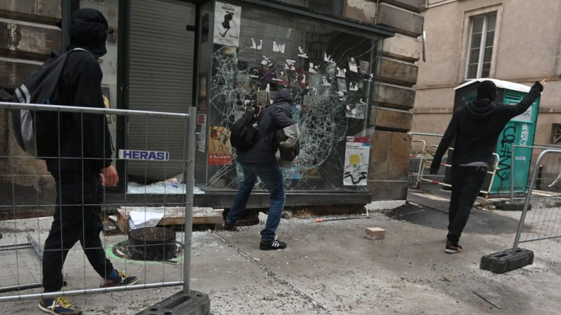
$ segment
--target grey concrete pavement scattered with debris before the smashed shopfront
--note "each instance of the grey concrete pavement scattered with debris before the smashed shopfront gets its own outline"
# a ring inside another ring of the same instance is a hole
[[[416,204],[370,211],[370,218],[357,220],[283,219],[279,240],[288,248],[282,251],[258,249],[263,223],[234,233],[195,232],[191,287],[210,295],[212,314],[558,314],[560,240],[527,243],[536,259],[517,271],[495,275],[478,268],[484,254],[512,246],[511,228],[517,216],[519,212],[474,211],[461,241],[464,252],[452,255],[443,251],[447,214]],[[2,221],[1,242],[35,230],[40,230],[44,241],[48,223],[48,218]],[[364,237],[368,227],[385,228],[385,240]],[[124,239],[107,236],[104,242],[109,246]],[[25,268],[37,273],[30,263],[32,252],[25,255],[30,265]],[[4,266],[4,258],[13,260],[15,255],[3,251],[0,256]],[[111,260],[145,282],[181,276],[180,264]],[[13,264],[2,268],[2,286],[12,279],[6,270],[13,268]],[[68,289],[97,286],[100,280],[79,246],[68,257],[65,275]],[[85,314],[135,314],[178,290],[81,295],[70,300]],[[6,302],[0,309],[5,314],[43,314],[36,304],[35,300]]]

